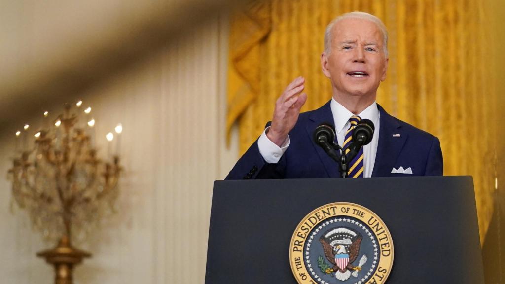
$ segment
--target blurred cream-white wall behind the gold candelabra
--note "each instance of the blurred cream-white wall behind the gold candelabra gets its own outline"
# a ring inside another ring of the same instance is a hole
[[[188,30],[160,54],[82,94],[96,140],[123,124],[120,213],[81,248],[76,283],[203,283],[213,181],[235,162],[225,147],[227,19]],[[64,102],[54,102],[59,108]],[[0,140],[0,283],[52,283],[35,253],[52,247],[11,213],[13,133]],[[236,139],[234,139],[236,141]]]

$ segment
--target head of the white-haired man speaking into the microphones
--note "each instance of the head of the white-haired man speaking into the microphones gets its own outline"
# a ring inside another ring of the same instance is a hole
[[[377,88],[386,78],[383,47],[382,33],[371,21],[349,18],[333,25],[331,52],[321,56],[321,65],[337,101],[349,96],[375,101]]]

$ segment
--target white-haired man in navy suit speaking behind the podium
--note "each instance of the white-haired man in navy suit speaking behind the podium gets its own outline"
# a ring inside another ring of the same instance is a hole
[[[339,177],[338,163],[315,143],[313,133],[322,123],[332,124],[342,147],[353,116],[375,125],[360,156],[360,176],[442,175],[438,138],[388,115],[376,103],[388,63],[387,31],[380,19],[363,12],[339,16],[326,28],[324,45],[321,67],[333,98],[300,114],[307,94],[302,92],[305,79],[296,78],[277,100],[271,124],[226,179]]]

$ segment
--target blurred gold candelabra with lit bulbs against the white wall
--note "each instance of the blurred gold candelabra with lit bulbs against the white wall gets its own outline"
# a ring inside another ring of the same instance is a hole
[[[37,254],[54,265],[56,284],[71,284],[73,267],[91,256],[73,247],[71,240],[83,240],[100,218],[113,213],[119,195],[119,156],[100,160],[92,141],[94,119],[86,125],[79,118],[79,112],[72,113],[66,105],[51,127],[35,133],[33,147],[27,147],[31,135],[25,125],[23,136],[16,133],[17,148],[23,139],[24,149],[18,151],[8,173],[15,203],[26,210],[46,240],[58,243]]]

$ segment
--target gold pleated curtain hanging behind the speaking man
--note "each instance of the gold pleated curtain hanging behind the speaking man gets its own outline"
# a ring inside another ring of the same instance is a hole
[[[302,111],[330,100],[331,85],[320,66],[326,25],[351,11],[374,14],[389,32],[388,74],[379,87],[378,103],[391,115],[440,138],[445,175],[473,175],[482,241],[492,215],[497,176],[493,135],[497,74],[489,71],[498,70],[492,58],[499,39],[489,33],[490,3],[257,2],[246,9],[247,17],[240,16],[242,11],[231,21],[228,131],[238,122],[243,153],[271,120],[275,100],[285,86],[300,75],[306,78],[308,94]],[[263,33],[248,36],[251,29]],[[240,43],[246,43],[246,49]]]

